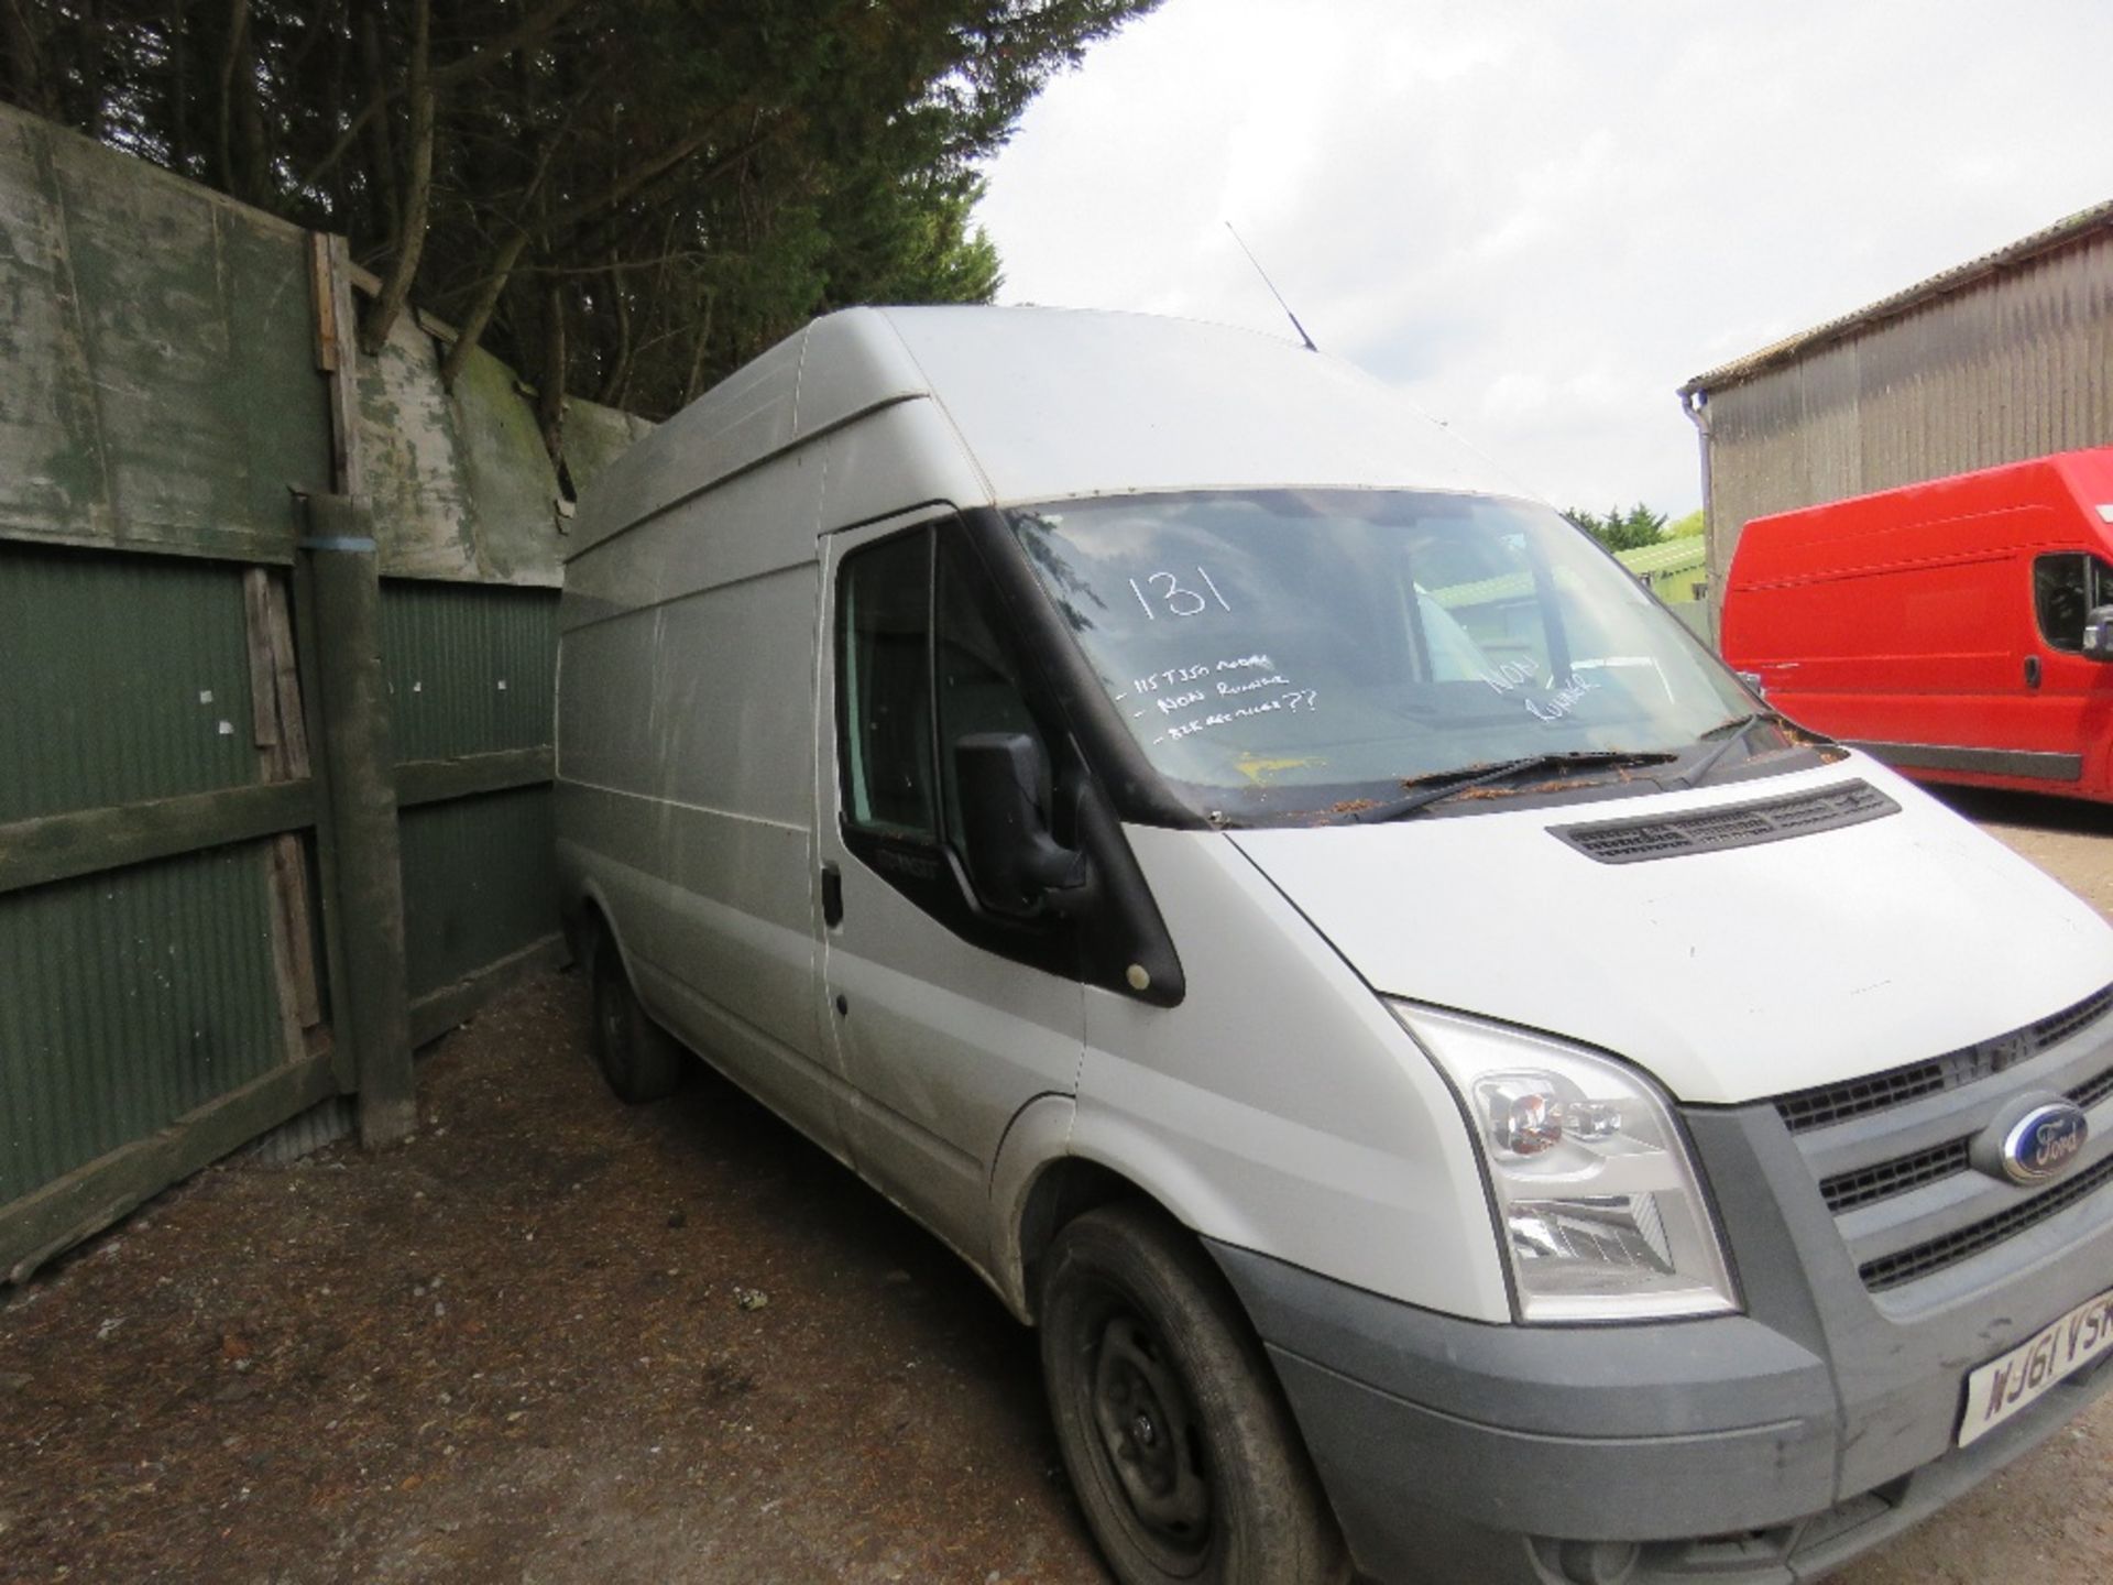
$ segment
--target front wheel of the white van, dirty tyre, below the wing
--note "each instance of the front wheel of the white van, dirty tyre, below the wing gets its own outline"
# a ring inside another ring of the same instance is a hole
[[[1196,1241],[1137,1205],[1065,1226],[1042,1283],[1056,1441],[1122,1585],[1346,1577],[1276,1376]]]

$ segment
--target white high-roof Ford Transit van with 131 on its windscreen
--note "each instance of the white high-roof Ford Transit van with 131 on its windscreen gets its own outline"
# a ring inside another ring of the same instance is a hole
[[[558,852],[1126,1585],[1817,1579],[2113,1386],[2113,930],[1376,383],[852,311],[581,501]]]

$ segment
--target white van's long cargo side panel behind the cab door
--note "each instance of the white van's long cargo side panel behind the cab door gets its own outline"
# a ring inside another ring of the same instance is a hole
[[[839,1148],[807,797],[820,478],[786,456],[573,562],[558,831],[647,1008]]]

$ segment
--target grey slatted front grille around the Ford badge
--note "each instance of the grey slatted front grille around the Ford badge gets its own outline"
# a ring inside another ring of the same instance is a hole
[[[1864,1285],[1883,1293],[1950,1270],[2113,1183],[2092,1141],[2081,1171],[2033,1194],[1974,1167],[2014,1097],[2113,1099],[2113,987],[1944,1057],[1800,1090],[1775,1112],[1813,1167]]]

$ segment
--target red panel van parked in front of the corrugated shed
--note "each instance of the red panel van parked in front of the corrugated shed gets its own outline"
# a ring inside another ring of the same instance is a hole
[[[2113,801],[2113,446],[1756,518],[1720,632],[1910,776]]]

